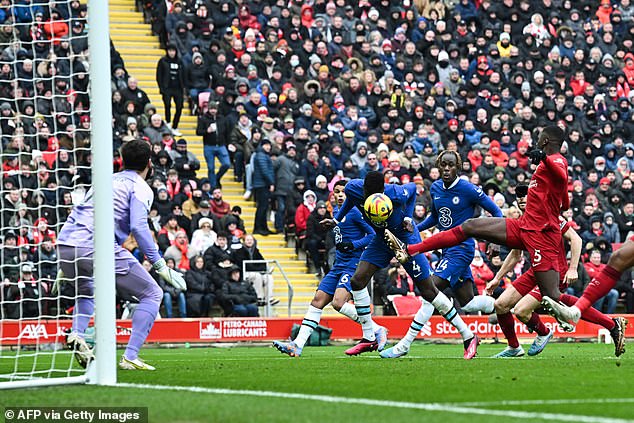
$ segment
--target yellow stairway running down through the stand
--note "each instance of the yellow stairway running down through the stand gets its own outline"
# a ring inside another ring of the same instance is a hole
[[[152,35],[150,25],[143,22],[143,14],[135,10],[134,0],[110,0],[110,36],[115,48],[125,61],[128,73],[139,80],[139,87],[150,97],[153,105],[161,115],[164,114],[163,101],[159,94],[155,79],[156,63],[165,54],[159,46],[158,37]],[[173,112],[173,110],[172,110]],[[189,115],[187,104],[183,110],[183,116],[179,124],[183,138],[187,140],[188,149],[196,154],[201,161],[200,177],[207,174],[207,165],[203,155],[201,137],[196,135],[196,117]],[[219,164],[216,163],[216,169]],[[247,231],[253,230],[255,216],[255,204],[242,198],[244,192],[242,184],[234,182],[233,169],[229,170],[222,180],[223,197],[232,206],[242,207],[242,218],[245,221]],[[273,224],[269,223],[273,228]],[[306,307],[313,297],[318,280],[305,265],[305,260],[295,254],[293,248],[286,247],[283,235],[269,235],[263,237],[256,235],[258,247],[266,259],[278,260],[286,272],[293,288],[292,316],[303,317]],[[286,301],[287,288],[284,278],[279,270],[274,273],[274,295],[280,299],[280,303],[273,307],[273,313],[279,317],[286,317],[288,303]],[[335,313],[330,307],[326,314]]]

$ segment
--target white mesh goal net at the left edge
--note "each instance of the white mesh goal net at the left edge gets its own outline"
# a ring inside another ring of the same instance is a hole
[[[56,238],[93,183],[87,14],[85,0],[0,8],[0,387],[86,380],[66,346],[82,294],[58,278]]]

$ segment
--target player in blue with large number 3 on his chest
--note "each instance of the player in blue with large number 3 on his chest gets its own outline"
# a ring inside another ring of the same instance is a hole
[[[436,159],[436,167],[442,172],[442,179],[431,186],[431,213],[418,224],[416,228],[418,232],[433,226],[446,231],[461,225],[467,219],[474,217],[478,206],[494,217],[502,217],[502,210],[482,192],[482,189],[458,177],[458,170],[462,169],[462,160],[458,153],[443,151]],[[493,297],[487,295],[474,297],[473,276],[470,268],[474,254],[475,240],[473,238],[444,249],[442,259],[438,262],[431,278],[440,291],[450,287],[464,311],[482,311],[489,314],[494,309]],[[412,320],[405,337],[392,348],[381,352],[382,358],[398,358],[409,352],[410,345],[431,316],[428,312],[430,307],[428,304],[423,304]]]

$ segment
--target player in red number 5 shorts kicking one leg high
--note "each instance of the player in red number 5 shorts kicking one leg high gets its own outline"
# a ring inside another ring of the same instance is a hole
[[[564,132],[558,126],[548,126],[539,135],[537,148],[529,154],[537,169],[528,189],[526,213],[519,219],[469,219],[461,226],[440,232],[423,242],[405,245],[385,231],[390,247],[399,261],[412,255],[448,248],[467,238],[481,238],[510,248],[527,250],[532,270],[541,292],[559,298],[559,263],[561,232],[559,214],[570,206],[568,199],[568,163],[559,153]],[[508,316],[511,319],[512,316]]]

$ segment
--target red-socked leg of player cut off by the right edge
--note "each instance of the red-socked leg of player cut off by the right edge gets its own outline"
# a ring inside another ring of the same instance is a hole
[[[553,297],[544,297],[542,305],[560,323],[577,324],[598,299],[607,295],[624,271],[634,266],[634,237],[612,253],[608,264],[586,287],[581,298],[572,307],[553,300]]]

